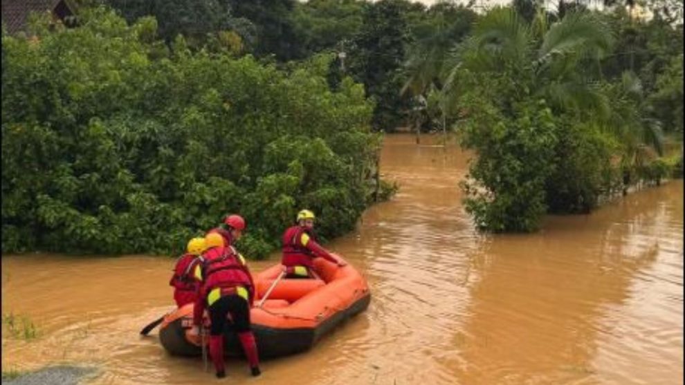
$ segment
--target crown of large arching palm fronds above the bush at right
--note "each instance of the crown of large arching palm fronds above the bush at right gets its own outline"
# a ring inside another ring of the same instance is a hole
[[[599,71],[587,71],[585,64],[608,53],[612,41],[607,26],[590,13],[569,13],[550,25],[547,12],[538,8],[528,24],[511,8],[496,8],[453,56],[446,88],[455,88],[459,66],[473,72],[510,68],[528,83],[533,97],[545,97],[558,109],[594,109],[606,115]]]

